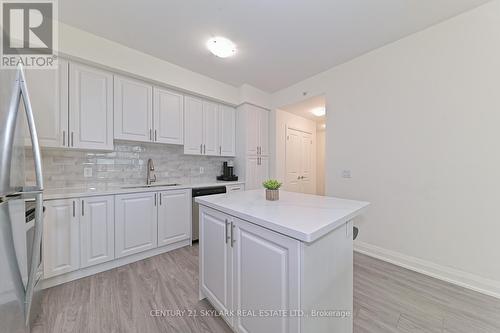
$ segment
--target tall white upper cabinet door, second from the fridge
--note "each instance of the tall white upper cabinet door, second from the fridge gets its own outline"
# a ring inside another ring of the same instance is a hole
[[[113,150],[113,75],[70,63],[70,146]]]

